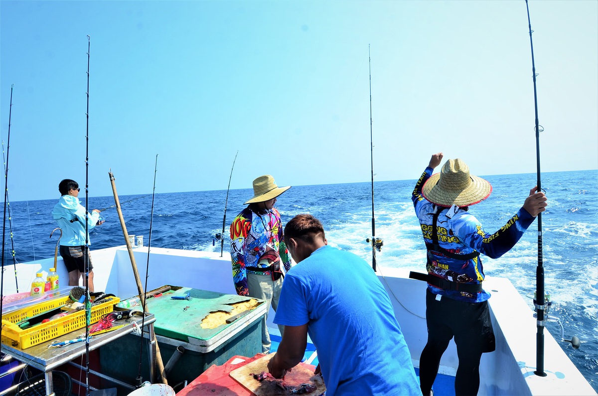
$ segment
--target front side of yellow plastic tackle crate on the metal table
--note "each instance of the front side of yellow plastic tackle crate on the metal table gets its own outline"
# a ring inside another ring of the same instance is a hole
[[[67,297],[68,298],[68,297]],[[108,297],[110,300],[105,303],[97,304],[91,307],[90,324],[100,320],[106,313],[114,310],[114,305],[118,304],[120,298]],[[2,343],[14,346],[20,349],[26,349],[33,345],[46,342],[71,331],[84,328],[86,325],[85,310],[70,313],[62,318],[44,324],[36,325],[32,328],[22,329],[16,324],[2,319]]]

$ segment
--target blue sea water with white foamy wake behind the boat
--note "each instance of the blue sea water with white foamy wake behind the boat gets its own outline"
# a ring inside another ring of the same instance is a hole
[[[422,169],[423,170],[423,169]],[[417,175],[419,176],[419,175]],[[281,176],[282,177],[282,176]],[[493,233],[523,205],[536,174],[486,177],[493,185],[489,199],[472,206],[471,213]],[[158,177],[159,183],[159,177]],[[413,270],[425,268],[425,247],[411,203],[414,180],[374,183],[376,236],[384,246],[377,254],[382,267]],[[542,174],[542,188],[548,196],[548,209],[542,214],[543,258],[546,290],[554,301],[551,315],[565,326],[565,337],[578,336],[581,347],[569,343],[562,348],[598,391],[598,170],[550,172]],[[151,193],[151,188],[148,188]],[[228,194],[224,250],[228,251],[228,226],[253,196],[251,189],[231,190]],[[83,197],[83,193],[81,193]],[[135,199],[132,202],[127,200]],[[151,241],[149,224],[152,196],[120,196],[129,234],[143,235],[144,243],[163,248],[220,251],[213,244],[222,232],[226,190],[155,194]],[[58,197],[57,197],[58,199]],[[10,203],[7,221],[5,276],[10,276],[14,243],[17,262],[53,257],[56,227],[50,212],[56,200]],[[90,197],[89,209],[114,205],[114,197]],[[371,182],[295,186],[279,197],[276,207],[283,224],[294,215],[309,212],[324,224],[328,242],[371,261],[371,248],[365,242],[372,236]],[[91,249],[124,245],[123,231],[115,208],[102,212],[106,223],[91,230]],[[10,239],[10,226],[14,238]],[[538,225],[530,226],[517,245],[498,260],[483,258],[489,276],[508,278],[532,306],[538,265]],[[530,321],[534,319],[530,318]],[[560,328],[549,322],[548,330],[560,339]],[[530,340],[535,342],[535,340]]]

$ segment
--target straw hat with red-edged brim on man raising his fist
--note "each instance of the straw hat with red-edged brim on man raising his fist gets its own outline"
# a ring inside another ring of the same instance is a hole
[[[422,188],[429,202],[450,208],[482,202],[492,193],[487,180],[469,174],[469,166],[460,159],[448,160],[440,173],[430,176]]]

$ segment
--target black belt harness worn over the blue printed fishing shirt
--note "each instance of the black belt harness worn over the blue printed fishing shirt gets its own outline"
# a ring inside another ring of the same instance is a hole
[[[437,206],[437,211],[432,216],[432,244],[429,245],[426,243],[426,249],[428,249],[428,254],[430,251],[440,252],[441,254],[446,255],[450,258],[455,258],[457,260],[471,260],[472,258],[478,257],[480,252],[474,251],[468,254],[456,254],[453,252],[448,251],[440,246],[438,243],[438,231],[436,228],[436,224],[438,223],[438,215],[441,214],[442,211],[448,208],[441,208]],[[446,290],[454,290],[454,291],[465,291],[466,293],[480,293],[482,291],[481,284],[463,284],[459,282],[449,281],[448,279],[440,278],[438,276],[430,275],[429,273],[419,273],[411,271],[409,273],[409,278],[417,279],[419,281],[428,282],[435,287],[440,287]]]

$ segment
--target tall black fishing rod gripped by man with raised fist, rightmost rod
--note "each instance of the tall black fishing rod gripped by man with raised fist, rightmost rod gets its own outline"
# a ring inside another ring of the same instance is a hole
[[[541,126],[538,123],[538,91],[536,89],[536,63],[533,59],[533,41],[532,41],[532,22],[529,17],[529,4],[525,0],[527,8],[527,24],[529,26],[529,44],[532,50],[532,77],[533,77],[533,105],[536,115],[536,172],[538,177],[538,190],[541,191],[541,180],[540,180],[540,132],[544,131],[544,128],[540,129]],[[536,298],[534,304],[537,312],[536,322],[536,370],[534,374],[539,377],[545,377],[547,374],[544,372],[544,327],[546,326],[547,318],[545,318],[546,306],[545,306],[545,291],[544,291],[544,264],[542,263],[542,214],[538,214],[538,266],[536,267]]]

